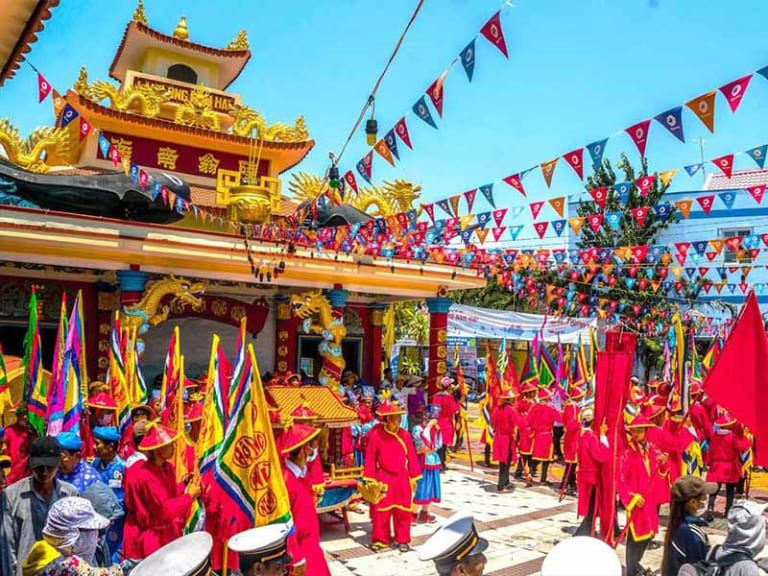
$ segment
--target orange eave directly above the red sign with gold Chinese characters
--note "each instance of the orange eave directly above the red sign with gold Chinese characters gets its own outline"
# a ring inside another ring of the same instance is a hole
[[[274,164],[279,165],[279,173],[290,170],[296,166],[304,159],[307,154],[309,154],[309,151],[312,150],[312,148],[315,146],[315,141],[311,139],[305,140],[304,142],[277,142],[273,140],[254,141],[251,138],[246,138],[245,136],[237,136],[228,132],[205,130],[203,128],[196,128],[194,126],[176,124],[170,120],[163,120],[160,118],[147,118],[138,114],[121,112],[120,110],[115,110],[114,108],[108,108],[106,106],[102,106],[101,104],[97,104],[73,90],[69,90],[67,92],[66,99],[68,102],[74,104],[78,109],[84,108],[91,112],[93,116],[92,118],[89,118],[89,120],[97,120],[100,117],[102,119],[112,120],[116,124],[134,124],[145,128],[156,128],[166,132],[167,134],[164,137],[169,142],[175,142],[176,144],[189,144],[189,137],[193,136],[204,141],[205,145],[210,146],[211,149],[247,156],[250,146],[253,142],[255,142],[257,146],[260,146],[263,142],[264,151],[272,150],[275,152],[284,152],[290,155],[290,160],[286,165],[282,165],[272,159]],[[102,127],[99,125],[100,123],[98,121],[91,123],[99,128]],[[107,130],[109,130],[109,128],[107,128]],[[178,135],[177,140],[173,140],[172,137],[170,137],[174,134]]]

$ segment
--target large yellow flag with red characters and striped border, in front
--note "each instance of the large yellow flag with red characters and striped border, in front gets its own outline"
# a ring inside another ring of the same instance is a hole
[[[264,526],[286,521],[291,509],[252,345],[244,356],[237,383],[243,393],[236,399],[214,472],[249,520]]]

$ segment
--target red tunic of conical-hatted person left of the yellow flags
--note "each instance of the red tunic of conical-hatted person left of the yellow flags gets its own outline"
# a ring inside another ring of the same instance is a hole
[[[192,499],[176,483],[173,464],[134,464],[125,478],[126,558],[146,558],[179,538],[191,506]]]

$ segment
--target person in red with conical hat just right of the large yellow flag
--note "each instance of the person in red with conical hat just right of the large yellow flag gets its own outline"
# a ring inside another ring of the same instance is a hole
[[[280,434],[283,480],[291,503],[295,530],[288,537],[288,553],[296,576],[330,576],[331,571],[320,548],[320,521],[315,509],[315,494],[310,483],[307,461],[316,456],[313,440],[318,428],[290,422]]]

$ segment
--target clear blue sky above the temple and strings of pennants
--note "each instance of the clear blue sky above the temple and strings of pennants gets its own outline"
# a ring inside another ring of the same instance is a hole
[[[190,39],[224,46],[246,28],[253,57],[231,86],[269,121],[306,116],[316,146],[301,170],[322,172],[327,153],[338,150],[405,25],[415,0],[146,0],[150,26],[171,33],[181,14]],[[385,78],[377,98],[380,129],[392,126],[501,5],[500,0],[427,0]],[[133,1],[65,1],[54,11],[30,60],[60,91],[81,65],[91,80],[107,70]],[[461,193],[524,170],[768,64],[768,4],[756,0],[516,0],[503,13],[510,59],[478,39],[475,77],[460,67],[445,84],[439,130],[409,117],[414,151],[389,168],[378,158],[374,179],[410,178],[425,200]],[[22,131],[52,122],[50,102],[37,104],[34,73],[24,65],[0,89],[0,117]],[[647,156],[652,169],[698,161],[691,139],[704,136],[715,157],[768,141],[768,81],[755,76],[734,115],[717,97],[716,131],[710,135],[684,113],[688,144],[660,125],[651,127]],[[342,173],[367,151],[362,130],[342,161]],[[627,151],[614,138],[607,155]],[[741,157],[736,168],[753,167]],[[533,199],[573,194],[580,182],[562,160],[547,191],[540,174],[526,179]],[[678,175],[675,189],[696,189],[701,177]],[[499,206],[523,200],[504,184]],[[484,201],[476,200],[475,211]],[[464,208],[462,208],[464,210]],[[527,211],[527,209],[526,209]],[[548,211],[548,212],[547,212]],[[545,207],[542,219],[556,218]],[[530,234],[530,233],[529,233]]]

